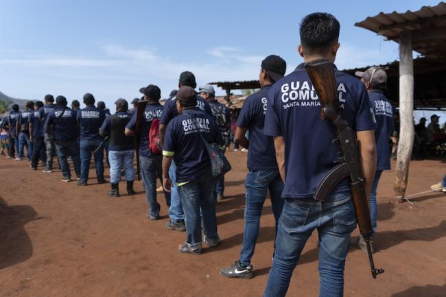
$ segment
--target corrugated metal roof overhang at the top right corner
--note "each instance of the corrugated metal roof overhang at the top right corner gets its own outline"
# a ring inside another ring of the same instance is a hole
[[[432,56],[432,58],[443,58],[446,52],[446,38],[443,34],[446,30],[445,2],[440,2],[435,6],[423,6],[415,12],[410,10],[388,14],[379,12],[376,16],[369,16],[364,21],[355,23],[355,26],[371,30],[396,42],[399,42],[399,34],[404,31],[436,30],[436,35],[441,37],[414,42],[413,48],[425,56]]]

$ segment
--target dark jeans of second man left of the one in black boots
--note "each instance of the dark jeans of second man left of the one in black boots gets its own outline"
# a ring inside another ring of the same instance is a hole
[[[74,171],[76,176],[80,178],[80,158],[79,158],[79,145],[78,140],[54,141],[54,147],[56,147],[56,154],[58,155],[60,161],[60,167],[62,168],[62,174],[64,178],[71,178],[70,165],[68,164],[67,158],[71,156],[74,165]]]

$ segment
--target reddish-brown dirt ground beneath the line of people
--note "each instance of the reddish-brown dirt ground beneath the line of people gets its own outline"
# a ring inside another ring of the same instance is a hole
[[[246,153],[230,152],[228,158],[233,171],[226,175],[227,199],[217,206],[222,243],[191,255],[177,251],[185,233],[164,227],[163,195],[158,197],[162,219],[145,217],[141,182],[135,186],[138,195],[108,198],[109,185],[95,185],[93,171],[91,185],[77,187],[61,182],[59,171],[42,174],[25,161],[1,156],[0,296],[262,296],[274,239],[270,202],[253,257],[255,277],[234,280],[218,274],[237,259],[243,236]],[[428,190],[445,172],[444,161],[413,161],[407,193]],[[394,171],[386,171],[378,189],[374,257],[386,272],[373,280],[366,254],[351,250],[344,296],[445,297],[446,194],[394,204],[393,181]],[[294,270],[287,296],[318,296],[316,239],[317,232]]]

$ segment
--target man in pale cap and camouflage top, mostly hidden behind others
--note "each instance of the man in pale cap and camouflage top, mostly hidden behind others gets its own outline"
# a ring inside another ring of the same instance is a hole
[[[215,91],[211,84],[206,84],[199,88],[200,97],[205,99],[209,106],[211,106],[212,115],[215,121],[218,123],[220,127],[220,132],[222,132],[223,140],[225,146],[222,147],[222,152],[226,152],[226,147],[229,146],[231,142],[231,112],[229,112],[228,108],[221,104],[215,99]],[[218,178],[215,184],[215,200],[223,200],[224,199],[224,175]]]

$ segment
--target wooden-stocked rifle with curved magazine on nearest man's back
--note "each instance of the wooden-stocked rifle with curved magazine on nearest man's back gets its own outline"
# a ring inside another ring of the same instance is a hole
[[[320,117],[322,120],[331,121],[336,128],[336,139],[340,143],[340,163],[333,167],[318,185],[313,198],[325,201],[334,187],[344,178],[350,177],[351,196],[360,227],[360,233],[364,237],[367,246],[368,261],[370,262],[373,278],[382,274],[382,268],[376,269],[371,252],[371,237],[373,228],[366,191],[364,189],[364,176],[361,168],[361,153],[357,144],[356,134],[347,121],[339,115],[339,100],[336,92],[336,78],[334,65],[328,60],[320,59],[305,65],[309,79],[318,94],[322,105]]]

